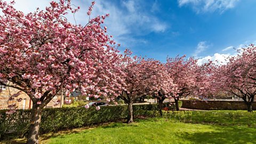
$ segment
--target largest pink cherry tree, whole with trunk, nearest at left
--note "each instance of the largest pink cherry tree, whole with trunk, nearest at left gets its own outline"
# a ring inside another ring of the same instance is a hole
[[[120,71],[120,55],[102,27],[109,14],[82,26],[65,17],[79,9],[70,0],[51,2],[45,10],[28,14],[13,4],[0,1],[0,85],[28,94],[33,108],[27,143],[39,143],[42,109],[61,89],[66,95],[77,89],[95,98],[119,95],[122,85],[115,71]],[[10,105],[7,113],[15,107]]]

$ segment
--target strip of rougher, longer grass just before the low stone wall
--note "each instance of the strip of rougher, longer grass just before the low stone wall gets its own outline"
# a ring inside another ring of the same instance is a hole
[[[164,118],[186,123],[256,127],[256,113],[246,110],[164,111]]]

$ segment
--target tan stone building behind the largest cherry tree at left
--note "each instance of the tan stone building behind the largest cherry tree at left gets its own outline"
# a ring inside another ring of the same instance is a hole
[[[7,109],[8,106],[8,99],[10,94],[14,94],[19,92],[19,90],[14,89],[13,87],[6,87],[3,85],[0,85],[0,89],[2,88],[2,92],[0,92],[0,109]],[[17,98],[15,98],[13,101],[17,104],[18,109],[30,109],[32,108],[33,102],[30,100],[28,95],[24,92],[22,92],[18,98],[22,98],[22,101],[18,102]],[[60,100],[61,102],[57,105],[54,106],[55,102],[57,100]],[[12,104],[12,101],[10,104]],[[61,97],[61,93],[58,93],[55,95],[55,97],[47,104],[46,108],[58,108],[63,105],[63,97]]]

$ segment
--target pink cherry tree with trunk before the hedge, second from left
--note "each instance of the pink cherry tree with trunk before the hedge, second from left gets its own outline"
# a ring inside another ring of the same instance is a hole
[[[123,80],[121,95],[119,98],[123,99],[128,104],[129,115],[127,123],[133,122],[133,102],[150,93],[147,87],[147,80],[151,77],[151,70],[155,61],[153,59],[145,59],[142,57],[132,56],[130,50],[125,50],[122,59],[121,79]]]

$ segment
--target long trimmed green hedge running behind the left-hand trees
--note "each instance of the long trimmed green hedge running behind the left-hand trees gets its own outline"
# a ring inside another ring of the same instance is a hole
[[[168,107],[169,103],[164,103]],[[169,110],[173,107],[169,107]],[[0,111],[0,139],[4,137],[22,138],[28,132],[31,110],[18,110],[7,115],[6,110]],[[47,108],[43,109],[40,133],[57,132],[75,127],[89,126],[106,122],[116,122],[125,119],[128,115],[127,106],[107,106],[95,110],[94,107]],[[133,105],[134,117],[158,116],[157,104]]]

